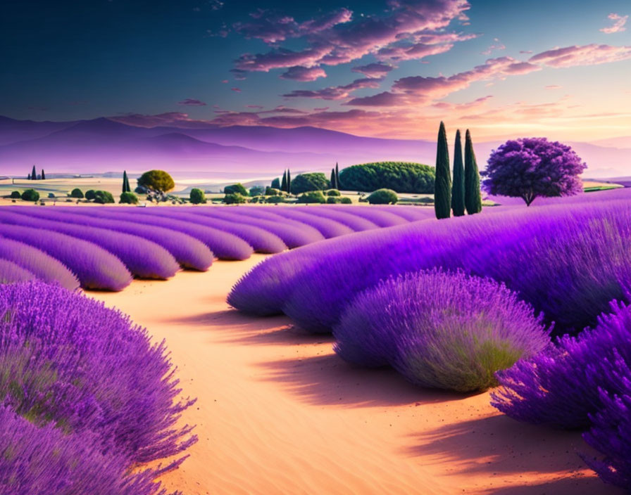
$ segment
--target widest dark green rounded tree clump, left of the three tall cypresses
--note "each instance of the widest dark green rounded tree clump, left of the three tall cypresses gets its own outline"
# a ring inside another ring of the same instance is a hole
[[[435,169],[411,162],[375,162],[346,167],[339,172],[345,191],[389,188],[397,193],[434,193]]]

